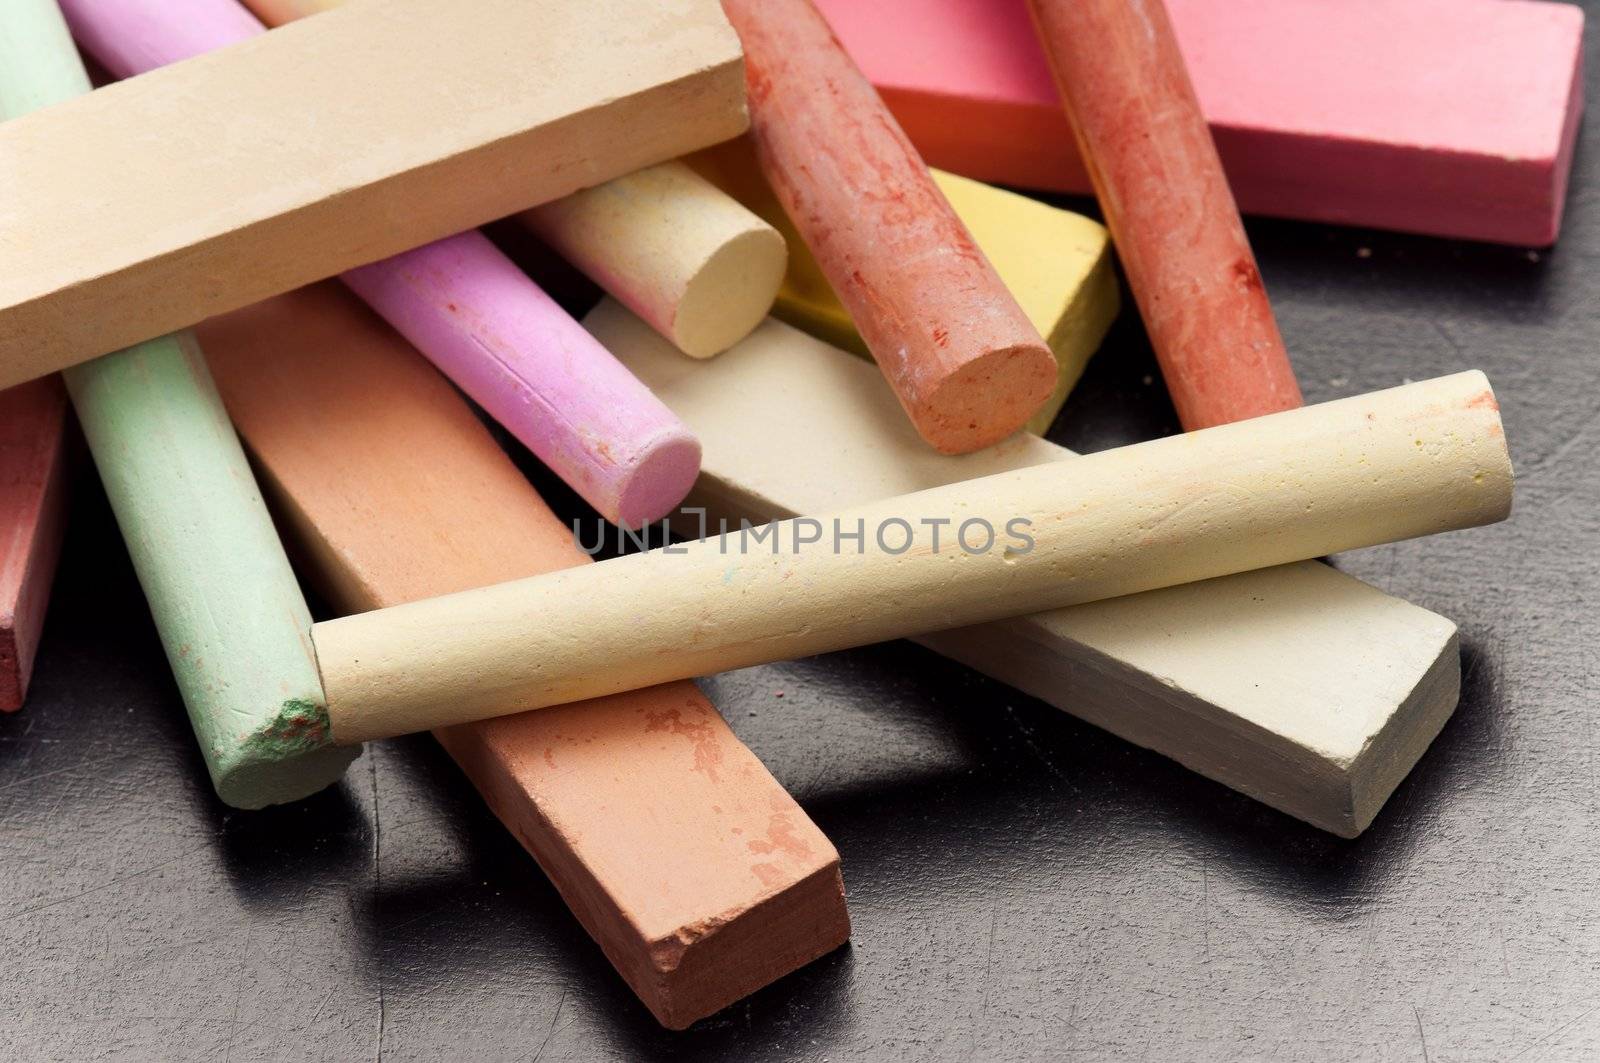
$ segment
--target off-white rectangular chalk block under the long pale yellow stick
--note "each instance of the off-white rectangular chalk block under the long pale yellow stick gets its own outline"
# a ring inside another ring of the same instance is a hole
[[[768,322],[685,365],[616,303],[584,322],[701,435],[691,503],[771,520],[1072,451],[1018,435],[933,455],[858,359]],[[805,463],[792,461],[802,451]],[[848,474],[840,474],[840,471]],[[1344,837],[1360,834],[1456,708],[1456,626],[1318,562],[918,639],[1128,741]]]

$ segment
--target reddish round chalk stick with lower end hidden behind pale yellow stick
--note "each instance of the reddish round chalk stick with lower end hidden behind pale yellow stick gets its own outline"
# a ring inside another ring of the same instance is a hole
[[[1301,405],[1162,0],[1029,0],[1184,429]]]

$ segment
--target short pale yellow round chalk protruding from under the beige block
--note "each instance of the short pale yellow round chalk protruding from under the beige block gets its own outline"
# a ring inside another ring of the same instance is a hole
[[[776,229],[680,162],[518,219],[696,359],[722,354],[762,323],[789,261]]]

